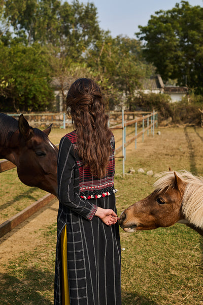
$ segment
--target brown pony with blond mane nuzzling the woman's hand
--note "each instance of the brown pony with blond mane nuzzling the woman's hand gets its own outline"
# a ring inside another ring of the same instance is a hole
[[[126,208],[120,226],[126,232],[169,227],[180,222],[203,235],[203,178],[187,171],[160,173],[155,190]]]

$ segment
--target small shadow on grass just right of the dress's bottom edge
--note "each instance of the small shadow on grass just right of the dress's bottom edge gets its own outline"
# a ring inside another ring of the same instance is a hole
[[[158,305],[158,304],[136,293],[128,293],[127,291],[122,291],[122,305]]]

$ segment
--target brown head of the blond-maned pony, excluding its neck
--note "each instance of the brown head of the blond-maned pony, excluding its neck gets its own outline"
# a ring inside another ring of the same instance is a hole
[[[119,224],[124,231],[169,227],[184,219],[181,204],[185,183],[172,171],[168,172],[168,180],[164,179],[156,181],[152,194],[122,212]]]

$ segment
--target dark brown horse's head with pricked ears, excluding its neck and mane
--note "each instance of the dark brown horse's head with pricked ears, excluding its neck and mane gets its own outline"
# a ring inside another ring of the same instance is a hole
[[[27,186],[38,187],[57,196],[58,149],[48,135],[52,124],[41,131],[29,126],[21,114],[18,120],[19,150],[16,158],[19,179]]]

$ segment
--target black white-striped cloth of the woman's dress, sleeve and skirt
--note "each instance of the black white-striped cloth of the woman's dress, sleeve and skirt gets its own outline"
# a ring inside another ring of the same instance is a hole
[[[65,150],[64,150],[65,149]],[[118,224],[111,227],[94,217],[97,206],[116,211],[115,196],[82,200],[73,145],[59,147],[57,249],[54,305],[61,302],[60,234],[67,229],[67,272],[71,305],[120,305],[120,240]],[[93,181],[93,180],[92,180]],[[113,292],[113,293],[112,293]]]

